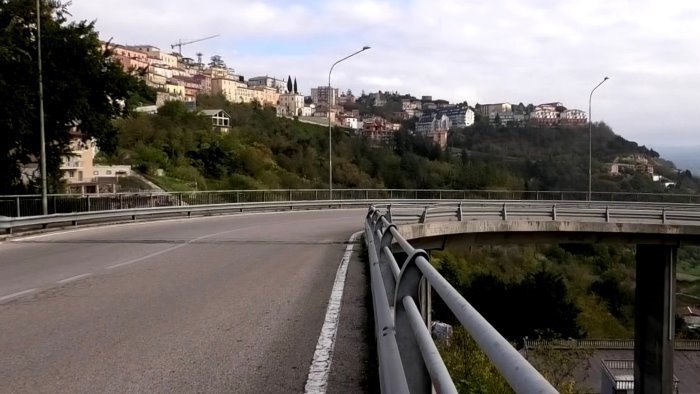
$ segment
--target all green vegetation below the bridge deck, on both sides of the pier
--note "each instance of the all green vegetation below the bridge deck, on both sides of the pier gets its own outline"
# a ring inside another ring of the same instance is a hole
[[[432,263],[502,335],[516,345],[531,339],[631,338],[634,332],[635,249],[626,245],[483,246],[433,252]],[[678,253],[678,305],[700,300],[700,247]],[[693,298],[697,297],[697,298]],[[433,318],[459,326],[439,300]],[[676,317],[678,338],[698,339]],[[455,329],[440,352],[461,393],[508,392],[491,380],[493,366],[468,334]],[[588,349],[540,346],[528,359],[560,392],[579,392],[576,366]],[[469,361],[462,360],[469,357]],[[487,382],[487,383],[484,383]],[[486,386],[484,386],[486,384]],[[483,389],[487,387],[487,389]]]

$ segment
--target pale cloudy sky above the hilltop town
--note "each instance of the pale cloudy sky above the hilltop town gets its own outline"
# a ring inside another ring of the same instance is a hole
[[[450,102],[588,111],[648,147],[697,146],[700,1],[696,0],[73,0],[104,40],[223,57],[246,78],[296,77]]]

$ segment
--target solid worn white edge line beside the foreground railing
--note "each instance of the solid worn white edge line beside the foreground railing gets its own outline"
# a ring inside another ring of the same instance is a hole
[[[331,362],[333,361],[335,337],[338,333],[338,320],[340,318],[343,290],[345,289],[345,277],[348,273],[348,263],[352,256],[355,240],[361,234],[362,231],[359,231],[350,237],[349,244],[345,248],[345,254],[340,260],[340,266],[338,266],[338,271],[335,274],[333,290],[331,290],[331,297],[328,300],[328,308],[326,309],[326,318],[323,321],[321,335],[318,337],[314,358],[311,361],[309,375],[306,378],[305,393],[324,394],[328,389],[328,376],[330,375]]]

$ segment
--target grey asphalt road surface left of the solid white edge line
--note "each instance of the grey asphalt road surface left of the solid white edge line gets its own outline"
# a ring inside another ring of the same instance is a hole
[[[179,219],[0,243],[0,392],[302,392],[364,212]]]

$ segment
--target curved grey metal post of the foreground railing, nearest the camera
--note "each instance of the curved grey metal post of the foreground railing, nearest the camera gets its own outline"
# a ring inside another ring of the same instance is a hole
[[[414,250],[408,255],[403,268],[401,268],[394,296],[394,325],[396,327],[396,343],[399,346],[401,363],[404,366],[409,390],[412,393],[429,393],[432,390],[430,375],[402,302],[404,297],[409,296],[417,305],[421,305],[419,286],[423,274],[415,263],[418,257],[427,260],[428,254],[422,249]]]

